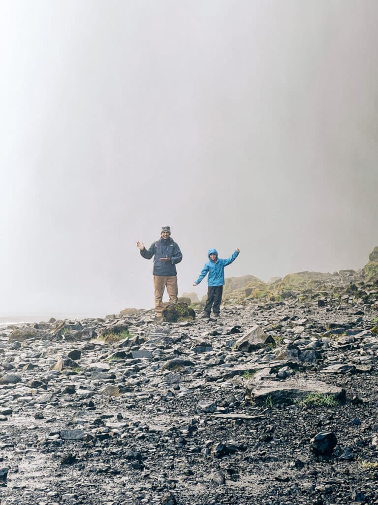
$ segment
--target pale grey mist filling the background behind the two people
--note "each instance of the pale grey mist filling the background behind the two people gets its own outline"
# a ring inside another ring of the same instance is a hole
[[[2,0],[0,316],[358,269],[378,245],[375,0]]]

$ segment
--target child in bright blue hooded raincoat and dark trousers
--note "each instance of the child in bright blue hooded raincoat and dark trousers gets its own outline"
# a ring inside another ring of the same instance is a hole
[[[206,277],[206,274],[209,273],[207,279],[209,287],[207,290],[205,317],[210,317],[212,307],[214,316],[219,317],[224,286],[224,267],[230,265],[234,260],[236,260],[239,252],[240,249],[236,248],[227,260],[222,260],[221,258],[218,258],[218,252],[216,249],[208,250],[209,261],[205,263],[199,278],[193,283],[194,286],[197,286],[202,279]]]

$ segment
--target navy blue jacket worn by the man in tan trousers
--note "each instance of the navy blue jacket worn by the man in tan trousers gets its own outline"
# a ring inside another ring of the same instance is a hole
[[[150,260],[154,257],[154,275],[166,276],[177,275],[176,264],[182,260],[180,248],[171,237],[160,238],[157,242],[150,245],[149,249],[144,248],[141,256]],[[169,258],[169,261],[160,261],[160,258]]]

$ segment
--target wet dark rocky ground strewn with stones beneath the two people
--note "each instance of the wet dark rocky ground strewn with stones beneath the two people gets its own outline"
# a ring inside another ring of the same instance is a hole
[[[1,503],[378,503],[378,305],[318,305],[3,329]]]

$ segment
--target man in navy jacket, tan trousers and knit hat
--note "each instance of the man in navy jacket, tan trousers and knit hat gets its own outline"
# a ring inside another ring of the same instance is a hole
[[[161,229],[160,240],[151,244],[146,249],[143,242],[137,242],[141,251],[141,256],[146,260],[154,257],[154,288],[155,288],[155,311],[156,316],[160,318],[163,312],[163,293],[167,288],[169,302],[177,303],[177,272],[176,264],[182,260],[180,248],[171,238],[171,229],[169,226],[163,226]]]

